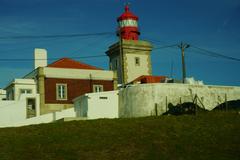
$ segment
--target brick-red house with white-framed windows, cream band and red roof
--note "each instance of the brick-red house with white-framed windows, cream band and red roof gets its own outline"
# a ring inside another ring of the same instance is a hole
[[[46,67],[38,67],[25,79],[36,81],[40,94],[40,113],[73,107],[72,100],[85,93],[114,90],[114,72],[62,58]]]

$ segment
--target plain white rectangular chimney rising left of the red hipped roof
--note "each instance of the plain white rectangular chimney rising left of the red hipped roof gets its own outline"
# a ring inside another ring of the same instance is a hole
[[[47,50],[35,48],[34,49],[34,69],[38,67],[47,66]]]

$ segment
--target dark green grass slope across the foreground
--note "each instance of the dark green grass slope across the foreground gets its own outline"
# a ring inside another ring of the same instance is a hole
[[[240,115],[205,113],[0,129],[2,159],[240,159]]]

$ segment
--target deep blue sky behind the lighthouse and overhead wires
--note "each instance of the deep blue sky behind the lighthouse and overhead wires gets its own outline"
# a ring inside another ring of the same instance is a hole
[[[139,16],[140,39],[155,47],[181,41],[240,58],[239,0],[0,0],[0,37],[114,32],[124,3]],[[0,39],[1,58],[33,58],[34,48],[46,48],[48,57],[105,54],[115,35],[53,39]],[[240,86],[240,62],[186,50],[187,76],[206,84]],[[0,58],[0,59],[1,59]],[[108,69],[108,58],[79,59]],[[52,61],[49,61],[49,63]],[[154,75],[181,78],[178,48],[152,52]],[[0,61],[0,87],[33,69],[33,61]]]

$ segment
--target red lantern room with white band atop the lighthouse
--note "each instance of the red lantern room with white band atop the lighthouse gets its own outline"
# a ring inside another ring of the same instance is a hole
[[[119,29],[117,35],[125,40],[138,40],[138,17],[129,11],[129,6],[125,6],[125,12],[117,19]]]

